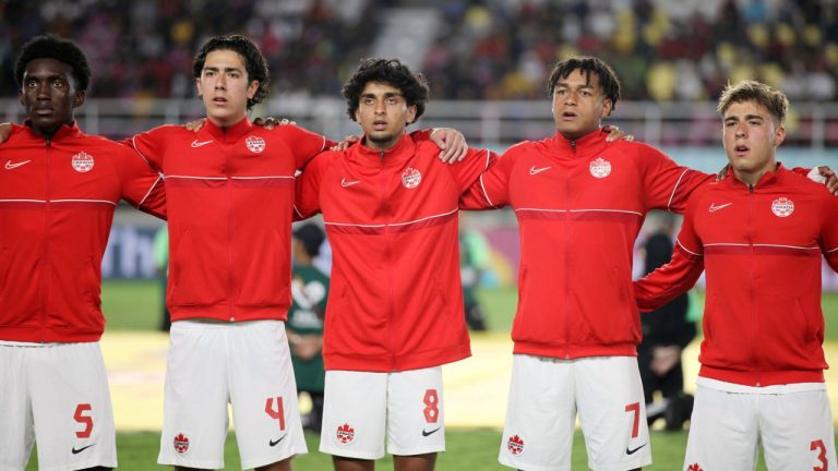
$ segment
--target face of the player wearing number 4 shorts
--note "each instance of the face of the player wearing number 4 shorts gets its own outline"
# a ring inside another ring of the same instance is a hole
[[[229,49],[206,55],[195,84],[206,107],[206,118],[222,126],[241,121],[248,114],[248,99],[259,89],[258,81],[248,80],[244,58]]]

